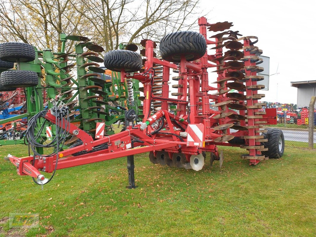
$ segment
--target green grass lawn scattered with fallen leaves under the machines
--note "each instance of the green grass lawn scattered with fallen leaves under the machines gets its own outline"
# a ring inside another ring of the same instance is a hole
[[[245,150],[220,149],[222,168],[207,154],[199,172],[135,155],[132,190],[126,158],[58,170],[41,190],[2,159],[27,147],[0,147],[0,236],[315,236],[315,151],[288,146],[281,159],[249,166]],[[40,227],[9,229],[9,213],[29,212]]]

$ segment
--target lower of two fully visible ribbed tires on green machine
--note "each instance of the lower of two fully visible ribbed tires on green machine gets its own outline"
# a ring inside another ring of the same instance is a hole
[[[1,73],[0,81],[3,87],[37,86],[39,78],[36,72],[27,70],[9,70]]]

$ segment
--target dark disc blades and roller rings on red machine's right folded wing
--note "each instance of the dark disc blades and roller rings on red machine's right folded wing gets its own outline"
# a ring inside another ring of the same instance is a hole
[[[209,27],[209,30],[226,30],[229,29],[230,25],[231,23],[228,22],[219,22]],[[238,38],[238,36],[241,36],[238,31],[225,31],[211,37],[217,38],[217,42],[220,42],[213,49],[218,50],[222,49],[223,47],[229,49],[222,57],[217,57],[214,60],[220,65],[218,66],[218,70],[215,72],[219,74],[216,83],[218,83],[218,94],[220,95],[219,98],[222,99],[221,102],[216,103],[214,106],[219,107],[219,110],[221,111],[218,117],[222,119],[222,121],[228,122],[226,124],[221,124],[214,129],[221,129],[224,134],[227,132],[227,128],[235,130],[251,129],[255,131],[255,134],[259,134],[259,132],[265,132],[265,130],[260,130],[260,128],[262,128],[261,124],[264,124],[265,121],[259,120],[262,119],[262,115],[265,114],[265,112],[259,111],[259,109],[262,108],[263,103],[258,103],[258,100],[264,97],[264,94],[258,94],[256,92],[257,90],[264,88],[264,85],[257,84],[258,81],[264,79],[263,76],[257,76],[257,73],[260,73],[264,70],[262,67],[257,66],[263,62],[263,59],[259,58],[259,56],[262,54],[262,51],[259,50],[258,47],[254,46],[254,44],[258,42],[257,37],[246,36]],[[228,41],[224,42],[224,40]],[[248,41],[250,43],[249,45],[244,46],[240,41]],[[243,52],[239,51],[240,49],[242,49],[244,52],[249,52],[250,55],[247,54],[247,56],[245,56]],[[247,65],[245,62],[247,62]],[[225,72],[225,74],[223,72]],[[249,81],[251,81],[251,83],[249,83]],[[246,85],[244,82],[246,82]],[[239,93],[227,93],[228,89],[225,91],[226,88],[237,90]],[[246,92],[246,96],[243,94],[243,92]],[[227,93],[225,96],[221,96],[221,94],[225,93]],[[245,100],[249,101],[246,103],[246,105],[244,105]],[[244,114],[246,116],[235,113],[231,114],[232,112],[230,112],[230,109],[239,111],[244,110]],[[227,119],[225,119],[225,116],[227,116]],[[234,119],[236,120],[234,120],[231,116],[235,116]],[[245,119],[247,119],[248,124],[250,120],[253,120],[252,122],[254,125],[241,126],[240,121]],[[221,138],[216,138],[214,141],[222,142],[232,139],[233,137],[234,136],[232,135],[224,135]],[[256,152],[256,156],[243,155],[243,158],[265,159],[265,157],[260,154],[261,151],[266,150],[266,148],[260,144],[260,142],[266,141],[263,139],[262,135],[243,136],[242,138],[248,140],[254,139],[255,143],[258,144],[255,146],[241,145],[241,148],[245,148],[247,150],[255,149]]]

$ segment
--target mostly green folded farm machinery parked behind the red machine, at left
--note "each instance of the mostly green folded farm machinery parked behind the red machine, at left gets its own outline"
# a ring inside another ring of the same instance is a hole
[[[7,101],[23,98],[23,110],[20,110],[23,113],[12,114],[11,108],[3,111],[7,114],[0,120],[3,127],[13,124],[16,119],[29,120],[34,114],[50,109],[51,100],[56,96],[68,106],[70,122],[92,136],[98,122],[104,123],[105,133],[110,135],[114,134],[112,124],[124,122],[127,109],[134,108],[141,113],[138,109],[140,101],[137,100],[140,96],[138,85],[131,86],[131,81],[121,82],[120,73],[99,66],[103,62],[99,57],[104,51],[101,46],[82,36],[60,34],[60,40],[62,46],[58,53],[50,49],[39,51],[31,45],[17,42],[0,45],[0,58],[8,61],[0,61],[3,69],[0,91],[12,91],[2,93],[3,97],[10,97]],[[67,40],[79,41],[74,52],[64,52]],[[14,63],[16,70],[10,70]],[[11,130],[15,131],[15,127]],[[40,137],[41,142],[46,141],[45,129]],[[23,137],[18,138],[0,140],[0,144],[25,143]],[[76,140],[70,136],[65,145]]]

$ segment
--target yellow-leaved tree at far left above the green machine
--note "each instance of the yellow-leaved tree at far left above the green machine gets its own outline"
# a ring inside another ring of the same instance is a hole
[[[60,33],[87,30],[70,0],[0,0],[0,27],[0,42],[22,41],[54,51],[61,49]]]

